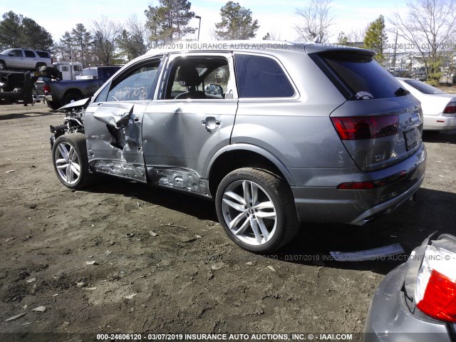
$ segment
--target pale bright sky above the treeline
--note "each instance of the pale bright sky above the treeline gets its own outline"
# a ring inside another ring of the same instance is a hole
[[[220,9],[228,0],[201,0],[190,1],[191,10],[195,15],[201,16],[200,41],[211,40],[210,32],[214,24],[220,21]],[[252,11],[253,19],[259,22],[257,38],[261,39],[266,33],[271,33],[276,40],[296,41],[298,35],[294,30],[299,24],[299,16],[294,14],[295,9],[306,6],[308,0],[234,0]],[[138,19],[145,21],[144,11],[147,7],[159,5],[158,0],[92,0],[92,1],[61,1],[61,0],[1,0],[0,14],[14,11],[33,19],[38,25],[43,26],[54,41],[58,41],[65,31],[71,31],[76,24],[82,23],[86,28],[92,26],[93,20],[106,16],[113,21],[124,23],[134,14]],[[359,0],[333,0],[330,42],[336,42],[338,33],[343,31],[360,31],[368,26],[371,21],[383,14],[385,20],[393,12],[405,11],[405,0],[359,1]],[[190,25],[197,28],[198,19],[192,19]],[[388,28],[388,22],[387,22]],[[194,37],[197,37],[195,33]],[[393,43],[390,35],[388,42]]]

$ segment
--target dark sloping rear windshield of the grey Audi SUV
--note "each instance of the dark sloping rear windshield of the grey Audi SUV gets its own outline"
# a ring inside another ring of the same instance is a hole
[[[349,100],[393,98],[400,88],[400,83],[367,53],[331,51],[320,57],[350,90]]]

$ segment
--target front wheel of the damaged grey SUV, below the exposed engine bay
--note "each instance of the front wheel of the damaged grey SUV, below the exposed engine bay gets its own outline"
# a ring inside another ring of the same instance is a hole
[[[93,177],[89,172],[86,136],[83,133],[58,137],[52,147],[52,161],[58,180],[66,187],[82,189],[90,185]],[[79,175],[75,172],[75,165],[79,167]]]

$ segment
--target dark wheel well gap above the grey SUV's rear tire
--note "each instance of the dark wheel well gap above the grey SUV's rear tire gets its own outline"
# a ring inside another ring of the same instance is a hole
[[[209,191],[211,192],[212,198],[215,198],[217,187],[222,179],[229,172],[239,169],[240,167],[261,167],[286,180],[282,172],[280,172],[279,168],[276,167],[273,162],[256,152],[248,150],[224,152],[215,160],[209,172]]]

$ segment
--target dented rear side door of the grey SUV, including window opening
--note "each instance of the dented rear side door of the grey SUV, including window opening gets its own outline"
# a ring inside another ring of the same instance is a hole
[[[229,145],[237,111],[231,53],[171,55],[159,98],[142,119],[147,177],[155,185],[209,195],[203,175]]]

